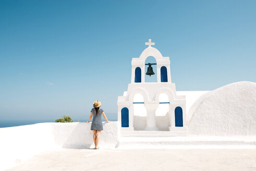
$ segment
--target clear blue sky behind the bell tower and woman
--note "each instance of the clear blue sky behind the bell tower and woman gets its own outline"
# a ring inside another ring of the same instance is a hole
[[[178,91],[256,82],[256,1],[0,1],[1,119],[117,118],[149,38]]]

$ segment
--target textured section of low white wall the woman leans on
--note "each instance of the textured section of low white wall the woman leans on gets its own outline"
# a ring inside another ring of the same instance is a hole
[[[52,132],[57,146],[71,149],[94,148],[91,123],[52,123]],[[119,138],[118,121],[103,122],[99,146],[115,148]]]

